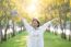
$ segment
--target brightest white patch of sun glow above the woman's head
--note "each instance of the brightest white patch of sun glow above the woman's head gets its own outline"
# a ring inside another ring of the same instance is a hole
[[[32,0],[25,10],[27,13],[34,13],[37,10],[38,0]]]

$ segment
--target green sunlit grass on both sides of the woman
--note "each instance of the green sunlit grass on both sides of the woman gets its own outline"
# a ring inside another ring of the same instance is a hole
[[[26,47],[26,33],[20,33],[13,38],[0,44],[0,47]],[[51,33],[45,33],[45,47],[71,47],[71,42],[61,39]]]

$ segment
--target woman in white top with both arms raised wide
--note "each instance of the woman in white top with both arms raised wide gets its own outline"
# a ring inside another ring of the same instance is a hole
[[[33,19],[31,26],[25,19],[22,19],[22,21],[28,33],[27,47],[44,47],[44,32],[50,22],[47,22],[44,25],[39,26],[39,21]]]

